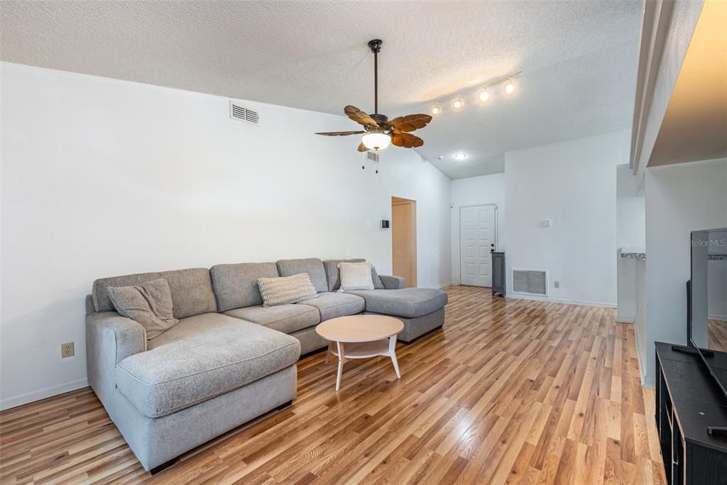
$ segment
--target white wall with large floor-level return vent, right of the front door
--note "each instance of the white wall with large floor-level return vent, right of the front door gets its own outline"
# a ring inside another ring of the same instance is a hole
[[[629,149],[624,130],[505,153],[510,296],[512,268],[545,269],[547,300],[616,306],[616,165]]]

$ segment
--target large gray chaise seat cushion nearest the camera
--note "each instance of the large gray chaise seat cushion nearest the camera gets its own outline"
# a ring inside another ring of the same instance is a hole
[[[174,327],[184,327],[184,336],[116,366],[119,392],[140,413],[172,414],[285,369],[300,356],[300,342],[281,332],[220,313],[193,318]]]

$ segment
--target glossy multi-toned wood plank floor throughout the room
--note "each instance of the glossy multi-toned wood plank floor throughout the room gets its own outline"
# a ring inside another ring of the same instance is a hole
[[[0,413],[13,483],[662,484],[654,393],[608,308],[453,286],[443,331],[388,358],[298,364],[294,404],[155,476],[89,389]]]

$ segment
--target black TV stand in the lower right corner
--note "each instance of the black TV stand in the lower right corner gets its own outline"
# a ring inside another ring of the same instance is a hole
[[[724,484],[727,398],[694,348],[656,342],[656,428],[667,484]],[[712,369],[727,372],[727,353]]]

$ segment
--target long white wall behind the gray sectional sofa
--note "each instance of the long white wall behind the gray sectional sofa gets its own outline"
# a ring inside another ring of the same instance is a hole
[[[389,273],[380,220],[400,196],[417,201],[419,285],[451,279],[450,180],[395,147],[362,170],[355,137],[313,135],[352,128],[343,116],[246,102],[252,127],[225,97],[0,70],[3,408],[86,385],[95,278],[306,256]]]

